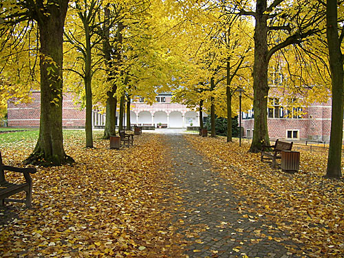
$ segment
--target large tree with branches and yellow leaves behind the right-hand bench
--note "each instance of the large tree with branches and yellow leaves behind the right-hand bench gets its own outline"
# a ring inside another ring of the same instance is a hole
[[[251,152],[261,150],[269,144],[268,138],[268,65],[277,51],[292,44],[301,44],[303,39],[319,32],[323,21],[321,4],[308,0],[299,1],[285,8],[285,0],[275,0],[268,6],[267,0],[257,0],[255,11],[241,9],[239,14],[255,18],[255,63],[253,66],[253,110],[255,131]],[[305,8],[307,6],[307,8]]]

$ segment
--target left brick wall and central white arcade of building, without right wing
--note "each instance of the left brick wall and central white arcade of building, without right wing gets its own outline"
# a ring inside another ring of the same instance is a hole
[[[28,104],[14,105],[9,101],[8,127],[39,127],[40,96],[40,92],[32,92],[32,102]],[[160,94],[156,97],[157,102],[153,103],[153,105],[144,103],[143,98],[131,103],[131,125],[152,125],[157,127],[161,123],[168,128],[186,128],[191,124],[193,126],[200,125],[198,113],[184,105],[171,103],[171,96],[172,94]],[[94,110],[92,125],[97,128],[104,127],[105,115]],[[63,127],[85,127],[85,109],[80,109],[80,107],[74,105],[71,94],[63,96]]]

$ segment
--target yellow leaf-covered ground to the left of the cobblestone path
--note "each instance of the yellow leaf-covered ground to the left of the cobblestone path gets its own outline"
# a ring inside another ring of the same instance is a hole
[[[174,191],[160,137],[136,136],[133,147],[120,151],[107,140],[85,149],[70,137],[65,149],[76,164],[32,176],[33,208],[11,204],[17,218],[0,221],[0,256],[180,257],[180,236],[161,212],[173,198],[165,190]],[[19,165],[31,148],[2,148],[4,163]]]

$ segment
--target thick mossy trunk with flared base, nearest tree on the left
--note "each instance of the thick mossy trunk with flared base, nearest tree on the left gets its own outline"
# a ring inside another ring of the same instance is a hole
[[[63,25],[68,1],[49,6],[49,16],[38,19],[41,68],[41,120],[39,139],[25,164],[60,166],[74,160],[65,154],[62,131]]]

